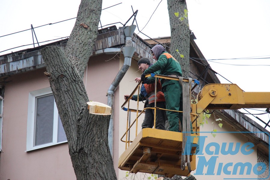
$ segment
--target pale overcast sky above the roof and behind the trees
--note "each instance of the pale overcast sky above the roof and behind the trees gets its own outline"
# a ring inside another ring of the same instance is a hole
[[[269,91],[270,1],[186,1],[190,30],[196,36],[195,42],[202,54],[209,60],[229,59],[208,61],[212,69],[236,83],[244,91]],[[74,18],[79,3],[79,0],[1,0],[0,36],[30,29],[31,24],[37,27]],[[118,3],[121,4],[110,7]],[[140,31],[151,38],[170,36],[166,0],[103,0],[102,8],[110,8],[102,11],[101,25],[114,22],[124,24],[132,15],[131,6],[134,11],[138,10],[136,19]],[[133,19],[127,25],[131,25],[132,21]],[[43,42],[67,37],[74,22],[75,19],[72,19],[37,28],[35,29],[37,39]],[[122,25],[118,23],[116,26]],[[139,33],[138,29],[135,33],[142,38],[147,38]],[[32,48],[33,45],[4,51],[31,43],[33,43],[31,30],[0,37],[0,55]],[[234,59],[250,57],[252,59],[249,60]],[[254,59],[254,57],[263,59]],[[225,79],[218,77],[222,83],[227,83]],[[269,116],[263,116],[263,119],[268,121]]]

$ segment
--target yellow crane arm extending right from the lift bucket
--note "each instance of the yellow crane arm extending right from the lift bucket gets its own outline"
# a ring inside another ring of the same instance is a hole
[[[270,92],[244,92],[236,84],[208,84],[198,94],[196,113],[241,108],[270,108]]]

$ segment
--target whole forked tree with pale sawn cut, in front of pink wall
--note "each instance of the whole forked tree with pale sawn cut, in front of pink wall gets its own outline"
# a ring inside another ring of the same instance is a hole
[[[97,37],[102,0],[82,0],[65,52],[42,49],[77,180],[116,180],[108,145],[110,115],[90,114],[82,77]]]

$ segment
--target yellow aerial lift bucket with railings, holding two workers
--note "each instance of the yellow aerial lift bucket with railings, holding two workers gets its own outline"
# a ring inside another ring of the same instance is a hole
[[[146,77],[150,76],[149,74]],[[152,74],[153,76],[153,74]],[[154,75],[157,78],[166,78],[179,80],[177,77],[163,76],[163,75]],[[188,79],[183,79],[187,81]],[[198,81],[193,80],[196,84],[190,88],[190,92],[198,85]],[[190,113],[190,119],[192,121],[193,134],[190,138],[190,154],[186,153],[186,157],[189,156],[190,166],[188,167],[186,161],[181,165],[182,161],[182,143],[183,143],[183,134],[184,132],[173,132],[155,129],[155,119],[154,119],[154,128],[144,128],[137,134],[137,123],[139,116],[144,112],[145,108],[142,111],[129,109],[129,100],[132,98],[132,95],[138,90],[140,83],[134,89],[134,91],[129,96],[128,100],[122,105],[122,109],[126,109],[129,112],[137,112],[137,117],[131,125],[128,125],[127,119],[127,130],[122,136],[121,141],[126,143],[126,148],[123,154],[119,158],[118,167],[121,170],[127,170],[130,173],[151,173],[151,174],[160,174],[164,177],[173,177],[174,175],[188,176],[190,171],[196,169],[196,147],[198,146],[198,136],[199,136],[199,122],[197,122],[196,107],[191,108],[192,113]],[[156,90],[155,90],[156,91]],[[139,101],[138,101],[139,102]],[[128,103],[128,108],[124,106]],[[156,109],[150,108],[150,109]],[[164,109],[165,110],[165,109]],[[181,112],[181,111],[178,111]],[[129,116],[129,115],[128,115]],[[154,116],[155,117],[155,116]],[[131,127],[136,124],[135,139],[133,141],[128,140],[128,134]],[[125,139],[125,140],[123,140]],[[187,159],[187,158],[185,158]],[[189,169],[190,168],[190,169]],[[183,170],[182,170],[183,169]]]

